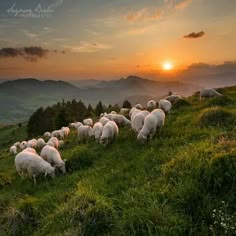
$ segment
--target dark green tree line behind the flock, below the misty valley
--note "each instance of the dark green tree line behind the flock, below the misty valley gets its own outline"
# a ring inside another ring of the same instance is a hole
[[[131,103],[125,100],[122,107],[131,108]],[[28,137],[32,138],[47,131],[60,129],[74,121],[97,117],[104,112],[119,112],[119,110],[120,107],[117,104],[105,106],[101,101],[95,107],[92,107],[90,104],[85,106],[81,100],[62,100],[53,106],[40,107],[31,115],[27,124]]]

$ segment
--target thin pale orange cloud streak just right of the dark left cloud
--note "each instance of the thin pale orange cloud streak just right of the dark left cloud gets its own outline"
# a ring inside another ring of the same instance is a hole
[[[94,53],[101,50],[111,49],[112,46],[103,43],[81,42],[79,46],[68,46],[66,48],[75,53]]]

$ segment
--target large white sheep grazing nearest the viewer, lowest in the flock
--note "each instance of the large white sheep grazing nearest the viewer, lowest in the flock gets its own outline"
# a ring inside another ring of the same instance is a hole
[[[30,178],[33,178],[36,184],[36,177],[38,175],[47,175],[52,178],[55,177],[55,168],[50,163],[46,162],[39,155],[27,151],[20,152],[15,157],[16,171],[20,176],[28,173]]]

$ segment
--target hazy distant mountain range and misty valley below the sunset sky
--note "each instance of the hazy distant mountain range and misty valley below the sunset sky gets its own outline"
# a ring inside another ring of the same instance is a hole
[[[148,100],[159,100],[170,91],[189,96],[202,87],[194,79],[160,82],[137,76],[111,81],[70,82],[27,78],[0,83],[0,123],[25,121],[40,106],[46,107],[62,99],[81,99],[86,105],[96,105],[99,100],[107,105],[121,105],[128,99],[133,104],[145,105]],[[236,84],[233,81],[230,83]]]

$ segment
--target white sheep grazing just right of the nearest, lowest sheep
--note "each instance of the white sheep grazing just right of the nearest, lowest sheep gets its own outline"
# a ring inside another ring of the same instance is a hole
[[[46,145],[42,149],[40,156],[63,174],[66,173],[65,161],[61,159],[61,155],[56,148]]]

